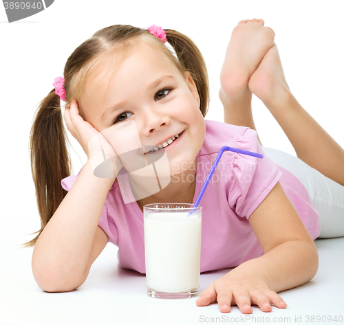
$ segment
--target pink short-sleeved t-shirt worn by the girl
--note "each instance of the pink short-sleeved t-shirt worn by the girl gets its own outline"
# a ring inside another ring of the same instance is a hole
[[[197,199],[208,172],[222,146],[263,153],[256,131],[206,120],[206,136],[197,155]],[[61,181],[69,190],[77,176]],[[264,254],[248,218],[280,181],[288,198],[315,239],[320,233],[319,213],[302,183],[287,170],[263,159],[226,151],[202,198],[201,272],[236,267]],[[118,246],[121,267],[145,273],[143,213],[136,201],[125,204],[120,186],[111,187],[99,226]]]

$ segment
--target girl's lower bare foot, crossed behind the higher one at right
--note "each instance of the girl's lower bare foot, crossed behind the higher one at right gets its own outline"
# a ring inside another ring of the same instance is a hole
[[[292,96],[276,44],[266,52],[259,67],[252,74],[248,88],[270,111]]]

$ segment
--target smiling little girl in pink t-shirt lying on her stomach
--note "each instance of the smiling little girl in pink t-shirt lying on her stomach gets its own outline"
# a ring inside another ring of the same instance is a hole
[[[109,241],[119,247],[121,267],[145,273],[143,206],[194,203],[219,149],[232,146],[264,153],[264,159],[224,153],[206,189],[201,271],[235,269],[213,282],[196,304],[217,302],[224,313],[233,304],[242,313],[252,313],[252,304],[262,311],[271,311],[272,304],[286,308],[276,292],[316,274],[313,240],[319,234],[343,236],[344,150],[292,96],[274,37],[261,19],[235,27],[219,92],[226,123],[204,120],[206,65],[195,44],[175,30],[114,25],[69,56],[64,78],[56,79],[32,126],[42,227],[28,245],[36,244],[32,269],[41,289],[80,287]],[[252,93],[277,119],[299,158],[263,151]],[[76,176],[69,176],[60,98],[66,102],[67,128],[88,158]],[[96,175],[94,139],[114,168],[111,175]],[[124,154],[136,149],[135,162],[146,161],[147,168],[153,157],[166,155],[169,182],[149,192],[151,183],[145,188],[133,168],[123,177],[135,198],[127,200],[118,170],[126,165]]]

